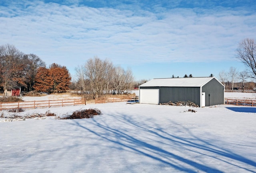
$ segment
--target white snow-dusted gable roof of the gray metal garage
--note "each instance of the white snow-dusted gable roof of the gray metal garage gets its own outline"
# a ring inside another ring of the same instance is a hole
[[[204,86],[206,83],[208,83],[212,79],[216,79],[216,78],[215,77],[158,78],[158,79],[152,79],[140,85],[139,87],[201,87],[201,86]]]

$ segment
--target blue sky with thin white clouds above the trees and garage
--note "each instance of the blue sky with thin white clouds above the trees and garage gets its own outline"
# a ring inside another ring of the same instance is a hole
[[[1,0],[0,45],[75,68],[98,56],[136,80],[245,70],[238,43],[255,38],[254,0]]]

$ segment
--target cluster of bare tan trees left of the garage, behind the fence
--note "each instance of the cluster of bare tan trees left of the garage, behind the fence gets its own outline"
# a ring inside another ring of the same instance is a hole
[[[123,94],[134,87],[134,76],[131,70],[114,66],[109,60],[98,57],[90,58],[76,68],[77,87],[83,94],[92,94],[98,98],[105,93]]]

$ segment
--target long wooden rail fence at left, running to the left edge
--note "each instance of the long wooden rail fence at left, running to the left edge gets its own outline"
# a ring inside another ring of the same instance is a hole
[[[86,104],[84,99],[62,99],[62,100],[44,100],[44,101],[19,101],[0,103],[0,110],[3,109],[19,109],[19,108],[34,108],[37,107],[60,107],[67,105],[82,105]]]

